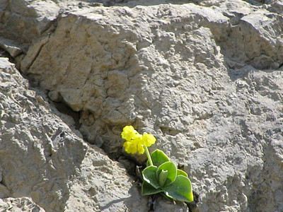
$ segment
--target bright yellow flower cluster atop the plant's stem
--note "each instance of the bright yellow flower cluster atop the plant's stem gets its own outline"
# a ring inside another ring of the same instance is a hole
[[[122,131],[122,139],[125,139],[124,147],[127,153],[143,154],[144,147],[149,147],[155,143],[156,138],[151,134],[139,134],[133,126],[125,126]]]

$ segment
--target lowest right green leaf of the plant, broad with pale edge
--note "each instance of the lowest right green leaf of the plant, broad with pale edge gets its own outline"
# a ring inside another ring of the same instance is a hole
[[[183,175],[179,175],[175,182],[163,187],[163,192],[178,201],[194,201],[190,179]]]

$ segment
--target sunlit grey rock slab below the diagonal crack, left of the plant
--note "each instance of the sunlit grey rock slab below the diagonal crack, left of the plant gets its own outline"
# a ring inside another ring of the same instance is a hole
[[[23,211],[147,210],[122,165],[74,134],[8,59],[0,69],[0,208],[12,197]]]

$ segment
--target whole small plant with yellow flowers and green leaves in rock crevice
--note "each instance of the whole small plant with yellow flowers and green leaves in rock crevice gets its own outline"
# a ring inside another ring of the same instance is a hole
[[[142,195],[151,195],[162,192],[169,199],[177,201],[194,201],[192,184],[183,170],[179,170],[167,155],[156,149],[149,153],[148,147],[156,142],[151,134],[139,134],[133,126],[125,126],[122,131],[125,139],[124,147],[127,153],[146,152],[146,168],[141,172],[144,182],[141,186]]]

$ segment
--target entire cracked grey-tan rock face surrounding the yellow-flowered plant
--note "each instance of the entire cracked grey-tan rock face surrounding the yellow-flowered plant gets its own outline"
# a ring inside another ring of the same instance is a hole
[[[31,105],[1,109],[11,113],[3,122],[13,123],[1,125],[0,155],[11,158],[0,159],[1,197],[29,196],[46,211],[148,210],[137,184],[105,155],[122,161],[120,132],[132,124],[156,136],[151,150],[184,165],[198,196],[190,211],[283,211],[283,19],[277,1],[46,1],[50,9],[35,2],[21,1],[19,9],[33,17],[30,23],[37,21],[25,29],[30,37],[12,24],[0,35],[28,47],[18,59],[21,71],[52,101],[79,112],[80,132],[73,131],[95,146],[72,133],[67,125],[74,122],[54,117],[45,100],[29,100],[23,93],[33,92],[20,86],[26,85],[22,79],[14,93],[25,91],[13,101]],[[3,26],[20,21],[8,6],[1,13]],[[6,84],[1,81],[1,92],[15,98]],[[57,141],[60,129],[64,136]],[[23,152],[16,162],[14,148]],[[22,166],[33,180],[23,180]],[[42,183],[44,189],[35,187]],[[156,211],[188,210],[157,201]]]

